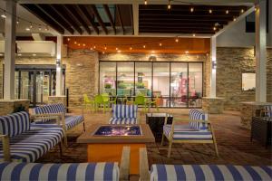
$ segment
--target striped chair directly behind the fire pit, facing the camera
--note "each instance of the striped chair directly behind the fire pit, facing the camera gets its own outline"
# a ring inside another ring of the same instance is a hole
[[[113,104],[112,118],[109,120],[110,124],[138,124],[137,120],[138,106]]]

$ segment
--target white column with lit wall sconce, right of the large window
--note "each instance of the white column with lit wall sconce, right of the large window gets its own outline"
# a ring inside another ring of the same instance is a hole
[[[210,38],[210,92],[209,97],[217,97],[217,38]]]

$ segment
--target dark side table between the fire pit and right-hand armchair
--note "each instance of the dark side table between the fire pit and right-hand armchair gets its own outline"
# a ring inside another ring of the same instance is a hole
[[[172,124],[173,116],[168,113],[147,113],[146,114],[146,123],[150,125],[152,133],[157,142],[159,142],[162,137],[165,117],[168,117],[167,124]]]

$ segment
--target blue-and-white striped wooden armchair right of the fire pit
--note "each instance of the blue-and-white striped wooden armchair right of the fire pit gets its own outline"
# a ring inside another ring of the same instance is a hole
[[[168,157],[170,157],[173,143],[211,143],[214,144],[216,154],[219,157],[216,138],[208,120],[208,114],[201,110],[189,110],[188,125],[176,125],[177,121],[184,122],[186,119],[174,118],[171,125],[167,124],[167,118],[164,122],[161,145],[164,137],[169,140]]]

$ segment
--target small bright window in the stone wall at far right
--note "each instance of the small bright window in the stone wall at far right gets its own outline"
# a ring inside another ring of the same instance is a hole
[[[256,89],[256,73],[243,72],[242,73],[242,90],[254,91]]]

